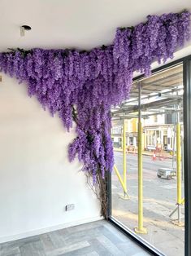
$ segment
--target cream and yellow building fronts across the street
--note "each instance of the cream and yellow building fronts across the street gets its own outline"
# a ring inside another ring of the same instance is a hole
[[[176,150],[176,118],[167,114],[148,116],[142,119],[143,126],[143,150],[152,151],[162,148],[163,151]],[[171,123],[170,123],[171,121]],[[125,120],[126,123],[126,147],[137,148],[137,124],[138,118]],[[111,137],[114,148],[122,148],[124,121],[113,121]],[[183,135],[182,135],[183,137]]]

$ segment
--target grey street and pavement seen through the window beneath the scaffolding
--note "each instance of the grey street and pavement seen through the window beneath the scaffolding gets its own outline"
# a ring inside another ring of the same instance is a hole
[[[123,154],[115,152],[115,165],[123,176]],[[151,156],[143,156],[143,216],[147,234],[141,236],[157,249],[169,256],[184,255],[184,227],[172,223],[169,217],[176,208],[176,178],[167,180],[157,177],[158,168],[171,168],[172,159],[153,161]],[[176,167],[176,162],[174,163]],[[127,155],[127,188],[129,199],[123,198],[123,189],[119,179],[112,174],[112,215],[132,231],[137,227],[138,213],[138,175],[137,155]],[[182,193],[184,183],[182,183]],[[184,193],[182,194],[184,197]],[[184,222],[184,206],[182,206]],[[172,216],[174,219],[177,214]]]

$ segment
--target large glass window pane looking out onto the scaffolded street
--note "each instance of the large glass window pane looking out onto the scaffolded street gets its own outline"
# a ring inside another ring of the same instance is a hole
[[[184,123],[182,65],[132,85],[121,113],[113,109],[113,127],[121,127],[112,174],[112,215],[163,254],[184,255]],[[138,135],[138,87],[141,85],[141,124]],[[124,108],[124,109],[123,109]],[[124,193],[123,126],[126,126]],[[143,223],[138,210],[138,141],[142,141]],[[115,147],[115,144],[114,144]],[[122,182],[119,181],[119,176]],[[128,197],[129,196],[129,197]],[[135,229],[135,227],[138,227]],[[143,231],[143,232],[141,232]]]

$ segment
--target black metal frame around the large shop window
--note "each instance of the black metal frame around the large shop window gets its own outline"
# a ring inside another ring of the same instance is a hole
[[[154,68],[153,73],[159,73],[165,69],[178,64],[183,64],[183,85],[184,85],[184,197],[185,197],[185,231],[184,231],[184,256],[191,255],[191,55],[179,60],[165,64],[159,68]],[[143,78],[144,75],[135,77],[133,82]],[[132,230],[120,223],[111,215],[111,174],[107,174],[107,213],[108,221],[124,232],[132,241],[141,245],[151,255],[162,256],[154,245],[150,245],[141,236],[137,236]]]

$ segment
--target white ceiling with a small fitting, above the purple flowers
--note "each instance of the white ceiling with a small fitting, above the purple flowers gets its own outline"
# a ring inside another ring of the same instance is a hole
[[[0,51],[7,48],[89,49],[110,44],[118,26],[146,15],[191,11],[190,0],[0,0]],[[20,37],[20,25],[32,30]]]

